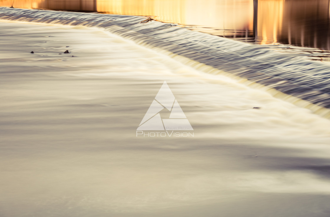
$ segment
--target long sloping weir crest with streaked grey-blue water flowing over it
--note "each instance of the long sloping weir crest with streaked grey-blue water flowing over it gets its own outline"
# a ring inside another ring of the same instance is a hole
[[[211,74],[224,74],[330,117],[330,66],[145,17],[0,8],[0,19],[102,28]],[[221,94],[221,93],[219,93]]]

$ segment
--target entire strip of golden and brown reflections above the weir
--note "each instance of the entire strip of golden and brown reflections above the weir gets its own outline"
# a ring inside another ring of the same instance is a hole
[[[155,16],[258,44],[330,50],[330,0],[0,0],[0,6]],[[257,5],[254,10],[254,4]],[[256,19],[256,20],[254,20]],[[253,26],[255,25],[255,26]]]

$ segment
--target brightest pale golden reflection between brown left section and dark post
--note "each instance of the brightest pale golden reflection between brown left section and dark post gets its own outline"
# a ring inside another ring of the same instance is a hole
[[[234,36],[252,31],[253,0],[98,0],[98,12],[157,16],[157,19],[187,25],[226,30],[219,35]],[[206,29],[204,29],[206,31]]]

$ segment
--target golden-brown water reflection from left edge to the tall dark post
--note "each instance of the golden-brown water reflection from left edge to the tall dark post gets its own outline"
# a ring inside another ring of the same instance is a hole
[[[251,37],[253,29],[253,0],[0,0],[1,6],[12,3],[14,8],[157,16],[225,37]]]

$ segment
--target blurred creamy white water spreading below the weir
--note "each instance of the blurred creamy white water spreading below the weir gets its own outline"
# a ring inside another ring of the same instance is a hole
[[[0,216],[330,215],[329,120],[98,28],[0,26]],[[164,80],[194,137],[136,137]]]

